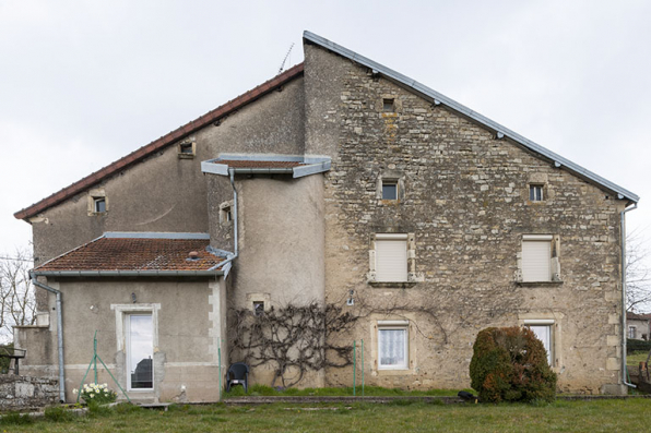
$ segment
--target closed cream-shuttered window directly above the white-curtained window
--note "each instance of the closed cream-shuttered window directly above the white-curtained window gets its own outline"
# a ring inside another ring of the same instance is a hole
[[[375,240],[376,281],[407,280],[407,236],[378,233]]]

